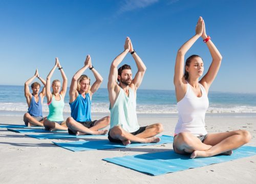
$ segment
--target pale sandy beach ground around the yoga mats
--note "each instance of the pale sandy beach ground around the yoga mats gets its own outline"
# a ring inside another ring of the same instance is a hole
[[[93,119],[98,119],[93,114]],[[1,124],[23,124],[22,116],[1,116]],[[139,115],[141,126],[162,123],[162,134],[173,135],[177,116]],[[245,129],[256,146],[256,116],[206,115],[209,133]],[[172,144],[96,151],[72,152],[52,144],[79,139],[38,140],[23,133],[0,129],[0,183],[255,183],[256,156],[231,162],[151,176],[107,163],[106,157],[172,150]],[[103,139],[103,138],[99,138]]]

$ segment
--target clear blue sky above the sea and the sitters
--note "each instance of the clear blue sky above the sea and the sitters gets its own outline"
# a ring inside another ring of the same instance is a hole
[[[202,16],[223,56],[210,90],[256,93],[255,7],[256,1],[236,0],[0,0],[0,84],[23,85],[36,68],[46,78],[55,57],[71,79],[90,54],[105,88],[110,64],[130,36],[147,66],[141,88],[174,89],[177,50],[195,34]],[[211,58],[202,39],[186,57],[191,54],[200,55],[207,70]],[[122,63],[136,69],[131,55]],[[89,70],[86,74],[93,77]]]

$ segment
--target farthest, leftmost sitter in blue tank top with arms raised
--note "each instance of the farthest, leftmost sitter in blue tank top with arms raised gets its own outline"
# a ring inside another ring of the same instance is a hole
[[[36,77],[44,84],[44,88],[42,88],[41,92],[39,93],[40,84],[38,82],[34,82],[31,84],[31,94],[29,91],[29,84]],[[29,107],[28,112],[24,114],[23,118],[26,126],[43,126],[42,101],[44,101],[44,97],[46,95],[45,85],[46,81],[39,76],[37,69],[35,71],[35,75],[25,82],[24,93]]]

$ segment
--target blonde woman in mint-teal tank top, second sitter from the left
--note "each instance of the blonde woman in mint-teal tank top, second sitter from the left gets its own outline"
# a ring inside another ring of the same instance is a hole
[[[58,67],[62,79],[62,89],[60,90],[61,83],[59,80],[54,80],[52,82],[52,89],[51,92],[51,77],[53,72],[55,71],[56,67]],[[68,130],[66,125],[66,121],[63,119],[63,108],[64,108],[64,98],[66,95],[68,86],[67,77],[63,71],[63,68],[60,66],[58,58],[55,58],[55,65],[53,66],[51,72],[47,76],[46,80],[46,97],[47,97],[47,104],[49,107],[49,115],[44,120],[44,126],[46,130]]]

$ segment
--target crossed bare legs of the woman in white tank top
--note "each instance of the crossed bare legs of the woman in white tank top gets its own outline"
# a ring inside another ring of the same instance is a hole
[[[190,158],[209,157],[237,149],[251,140],[246,130],[235,130],[222,133],[209,133],[202,143],[198,137],[182,132],[175,136],[175,152],[191,153]]]

